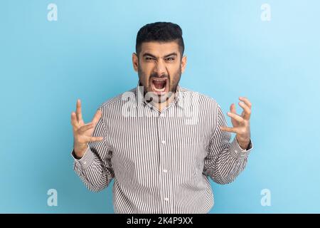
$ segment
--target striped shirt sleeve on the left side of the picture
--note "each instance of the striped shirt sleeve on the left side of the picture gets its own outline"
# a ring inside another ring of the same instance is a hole
[[[100,109],[101,110],[101,109]],[[73,169],[85,186],[92,192],[99,192],[107,187],[114,178],[112,169],[112,147],[106,141],[106,128],[103,114],[95,126],[93,137],[103,137],[100,142],[89,142],[85,155],[77,159],[75,152],[71,155],[74,159]]]

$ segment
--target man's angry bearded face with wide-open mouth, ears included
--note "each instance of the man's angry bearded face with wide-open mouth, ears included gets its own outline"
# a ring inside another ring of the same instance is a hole
[[[175,41],[142,43],[139,58],[132,55],[134,70],[144,86],[144,92],[157,96],[163,103],[175,91],[186,66],[186,56],[181,58],[178,43]]]

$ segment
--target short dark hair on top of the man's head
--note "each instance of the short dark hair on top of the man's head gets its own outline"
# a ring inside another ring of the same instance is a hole
[[[181,58],[184,51],[182,29],[177,24],[171,22],[155,22],[146,24],[139,29],[136,41],[136,53],[139,56],[142,43],[149,41],[170,42],[177,41]]]

